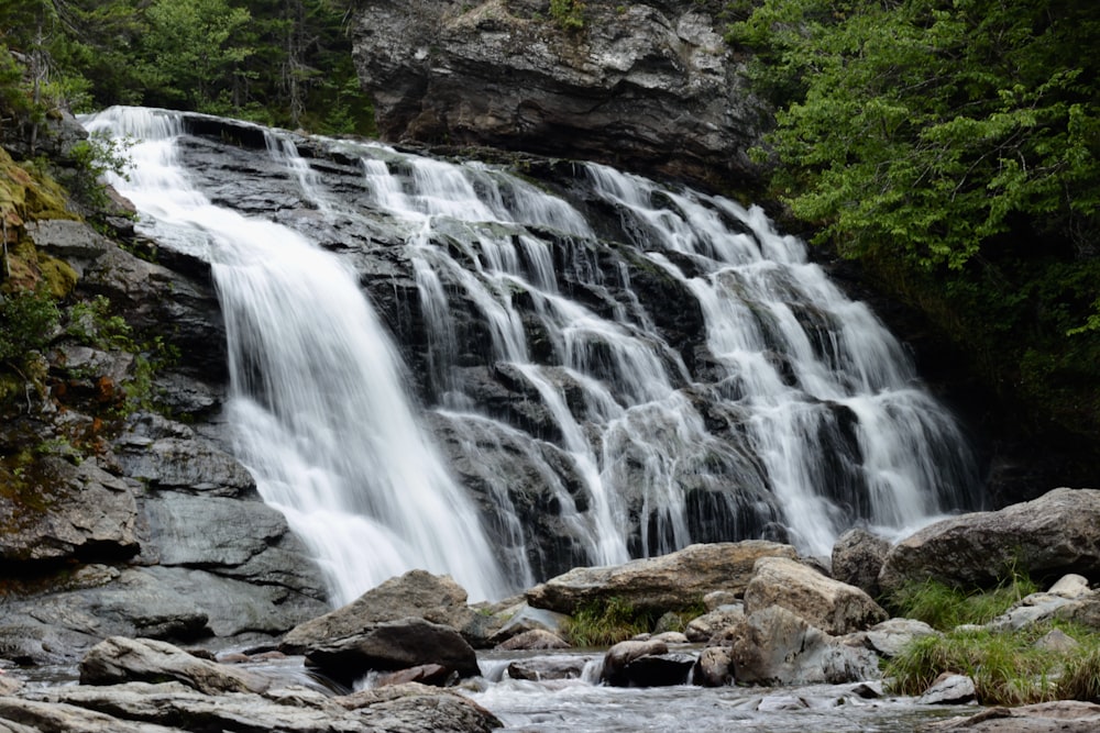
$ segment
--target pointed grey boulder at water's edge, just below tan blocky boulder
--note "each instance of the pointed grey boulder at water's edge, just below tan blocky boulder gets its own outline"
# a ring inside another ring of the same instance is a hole
[[[871,651],[846,644],[781,606],[746,617],[729,641],[738,682],[837,685],[881,677]]]

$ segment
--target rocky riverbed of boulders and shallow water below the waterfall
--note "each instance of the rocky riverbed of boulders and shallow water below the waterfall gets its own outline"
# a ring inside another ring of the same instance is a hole
[[[1058,489],[944,520],[893,545],[846,537],[833,558],[803,558],[762,541],[693,545],[576,568],[493,604],[470,604],[449,577],[413,570],[272,644],[233,652],[119,635],[88,647],[81,642],[90,640],[57,629],[50,646],[79,658],[69,667],[79,684],[43,681],[25,657],[6,662],[0,726],[8,728],[0,730],[659,731],[686,721],[700,731],[730,721],[772,731],[1092,730],[1100,706],[1075,701],[959,717],[965,708],[944,706],[978,701],[974,681],[960,675],[915,698],[891,697],[880,662],[939,632],[888,618],[866,590],[827,570],[850,573],[860,557],[856,575],[890,587],[902,578],[979,577],[979,560],[996,568],[1011,552],[1036,578],[1059,580],[990,628],[1049,619],[1096,628],[1097,543],[1080,533],[1100,526],[1098,519],[1100,491]],[[1059,532],[1044,531],[1048,522]],[[969,564],[946,565],[948,552]],[[609,648],[564,648],[565,619],[610,599],[662,617],[685,600],[701,601],[705,612],[683,631],[656,628]],[[6,656],[22,641],[13,622],[33,613],[4,607]]]

